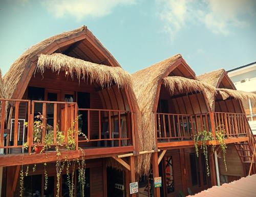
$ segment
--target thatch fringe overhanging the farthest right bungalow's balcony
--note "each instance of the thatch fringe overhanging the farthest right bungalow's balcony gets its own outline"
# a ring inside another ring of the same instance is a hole
[[[226,100],[229,97],[232,97],[234,99],[239,99],[241,101],[247,100],[247,99],[253,99],[256,100],[256,94],[239,91],[239,90],[230,90],[230,89],[217,89],[218,93],[222,96],[223,100]]]

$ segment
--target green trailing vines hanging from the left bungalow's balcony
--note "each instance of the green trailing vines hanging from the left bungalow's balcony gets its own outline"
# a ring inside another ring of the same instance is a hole
[[[71,124],[70,128],[68,128],[67,132],[67,144],[65,145],[66,150],[75,150],[76,149],[76,138],[75,136],[83,136],[87,141],[88,138],[86,135],[81,133],[79,130],[75,129],[75,125],[78,121],[78,116]],[[42,120],[45,119],[44,116],[42,116],[40,113],[39,115],[36,116],[36,120],[33,125],[34,129],[34,142],[36,142],[38,146],[40,146],[39,143],[41,143],[41,132],[42,128]],[[27,123],[26,123],[27,125]],[[48,125],[45,127],[45,129],[48,131],[48,133],[45,135],[45,139],[43,141],[44,146],[42,147],[42,150],[40,151],[40,154],[45,153],[46,151],[46,157],[48,153],[48,149],[51,148],[51,146],[54,143],[54,133],[53,133],[53,127]],[[63,169],[65,168],[65,164],[67,164],[66,171],[67,171],[67,181],[68,181],[68,187],[69,187],[69,196],[74,197],[74,191],[75,191],[75,184],[74,184],[74,174],[75,174],[75,165],[78,163],[78,182],[80,183],[81,186],[81,196],[84,197],[84,185],[86,183],[86,177],[85,177],[85,172],[86,172],[86,163],[85,163],[85,154],[84,150],[79,147],[79,150],[81,151],[82,159],[81,162],[79,162],[79,159],[73,159],[72,163],[70,160],[68,160],[68,157],[65,157],[65,161],[61,162],[61,151],[60,149],[63,147],[65,138],[66,136],[64,135],[64,132],[59,130],[59,127],[57,125],[56,129],[56,144],[55,146],[55,151],[56,151],[56,177],[57,177],[57,183],[56,183],[56,197],[59,197],[59,192],[60,192],[60,178],[61,178],[61,173]],[[28,148],[28,143],[24,143],[24,148]],[[33,147],[34,150],[34,147]],[[72,171],[70,172],[70,167],[72,166]],[[45,177],[45,185],[44,189],[47,190],[48,188],[48,173],[47,173],[47,163],[44,163],[44,177]],[[36,164],[33,166],[33,172],[36,170]],[[28,166],[26,170],[26,176],[28,175]],[[20,170],[20,196],[23,196],[23,187],[24,187],[24,173],[23,173],[23,168]]]

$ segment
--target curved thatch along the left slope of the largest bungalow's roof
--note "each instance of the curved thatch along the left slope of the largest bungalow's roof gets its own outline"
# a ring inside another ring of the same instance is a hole
[[[4,76],[5,81],[5,89],[4,94],[5,98],[12,98],[12,95],[16,89],[16,85],[20,78],[22,77],[22,74],[25,70],[25,67],[28,63],[31,62],[31,58],[33,58],[35,55],[39,54],[40,51],[45,49],[47,46],[49,46],[54,41],[79,33],[83,30],[86,30],[87,27],[83,26],[81,28],[75,29],[73,31],[64,32],[55,36],[52,36],[50,38],[47,38],[36,45],[29,48],[27,51],[25,51],[18,59],[14,61],[14,63],[11,65],[9,71]]]

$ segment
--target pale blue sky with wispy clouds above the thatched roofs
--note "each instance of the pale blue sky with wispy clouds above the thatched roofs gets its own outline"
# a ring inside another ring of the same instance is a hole
[[[254,0],[0,0],[0,68],[82,25],[134,73],[181,53],[197,74],[256,61]]]

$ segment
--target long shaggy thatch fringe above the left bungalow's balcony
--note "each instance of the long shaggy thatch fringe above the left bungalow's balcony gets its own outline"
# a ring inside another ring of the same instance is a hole
[[[102,88],[105,86],[110,87],[113,82],[119,89],[132,85],[131,75],[120,67],[92,63],[60,53],[52,55],[40,54],[38,56],[35,72],[44,73],[46,69],[57,73],[68,71],[68,75],[73,78],[75,74],[79,81],[80,79],[86,80],[90,78],[91,84],[96,82]]]

